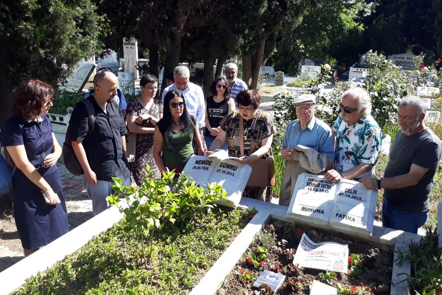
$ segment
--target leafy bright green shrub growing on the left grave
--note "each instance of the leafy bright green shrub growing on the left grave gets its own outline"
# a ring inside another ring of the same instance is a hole
[[[153,171],[147,166],[146,174]],[[147,266],[153,251],[155,232],[167,222],[186,225],[191,218],[203,212],[209,213],[214,203],[225,197],[226,192],[217,183],[207,184],[207,189],[199,187],[183,174],[174,179],[174,171],[163,173],[160,179],[145,177],[136,186],[123,186],[121,179],[113,177],[112,190],[107,197],[109,204],[117,206],[126,216],[126,232],[135,231],[141,241],[141,261]],[[121,200],[122,199],[122,200]],[[145,251],[147,242],[148,254]]]

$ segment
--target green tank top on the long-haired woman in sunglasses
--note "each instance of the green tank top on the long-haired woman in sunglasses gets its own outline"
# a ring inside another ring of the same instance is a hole
[[[187,131],[172,132],[172,146],[163,149],[163,160],[167,166],[186,166],[187,160],[193,155],[193,134]]]

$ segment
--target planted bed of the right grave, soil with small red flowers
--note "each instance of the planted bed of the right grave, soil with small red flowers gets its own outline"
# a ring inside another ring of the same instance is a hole
[[[348,244],[347,271],[339,273],[293,265],[293,258],[303,233],[314,242],[331,241]],[[293,223],[271,219],[255,237],[217,294],[259,294],[259,290],[252,285],[264,270],[279,272],[286,276],[276,291],[279,295],[309,294],[309,285],[313,280],[337,288],[338,294],[389,294],[393,247],[373,245],[350,237],[338,236],[319,229],[302,228]],[[265,256],[261,256],[262,259],[258,260],[258,265],[253,259],[250,260],[252,253],[256,257],[265,253]],[[353,270],[355,267],[359,269],[357,273]]]

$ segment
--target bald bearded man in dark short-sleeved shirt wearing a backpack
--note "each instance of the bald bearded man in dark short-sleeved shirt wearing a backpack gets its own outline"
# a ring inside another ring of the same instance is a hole
[[[126,156],[127,133],[123,115],[114,101],[118,79],[108,70],[94,77],[94,92],[88,98],[95,111],[95,122],[89,127],[86,102],[79,102],[71,115],[72,148],[83,168],[83,185],[92,200],[94,215],[108,207],[106,197],[112,193],[112,177],[129,186],[130,171]]]

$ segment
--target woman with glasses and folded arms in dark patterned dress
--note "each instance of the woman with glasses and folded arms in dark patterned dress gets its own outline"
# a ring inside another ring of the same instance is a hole
[[[158,90],[158,79],[153,75],[144,75],[139,81],[141,95],[129,101],[126,123],[130,132],[137,134],[135,160],[131,164],[131,177],[137,185],[146,177],[146,165],[154,170],[148,177],[158,177],[153,157],[154,131],[158,121],[163,118],[163,103],[155,99]]]

